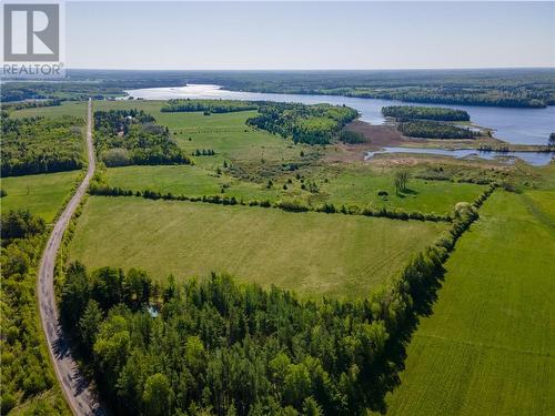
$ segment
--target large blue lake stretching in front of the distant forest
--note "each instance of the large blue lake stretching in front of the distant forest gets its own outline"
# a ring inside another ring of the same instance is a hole
[[[361,120],[382,124],[382,106],[398,105],[400,101],[360,99],[343,95],[276,94],[228,91],[219,85],[189,84],[186,87],[148,88],[125,91],[135,99],[224,99],[241,101],[281,101],[303,104],[329,103],[347,105],[361,113]],[[511,109],[501,106],[442,105],[410,103],[411,105],[445,106],[465,110],[475,124],[493,129],[495,138],[514,144],[546,144],[549,133],[555,132],[555,106],[546,109]]]

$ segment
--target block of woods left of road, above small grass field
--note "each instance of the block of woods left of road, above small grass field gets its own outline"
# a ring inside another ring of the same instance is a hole
[[[1,175],[17,176],[78,170],[83,166],[82,120],[11,119],[1,115]]]

